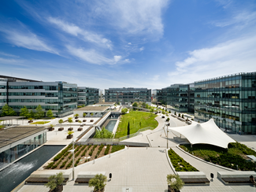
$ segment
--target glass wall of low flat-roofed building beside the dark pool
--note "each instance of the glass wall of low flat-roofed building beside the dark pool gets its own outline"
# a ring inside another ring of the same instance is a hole
[[[3,151],[0,153],[0,168],[3,166],[3,164],[9,164],[16,161],[18,158],[24,156],[24,154],[29,153],[36,147],[43,145],[45,142],[46,132]]]

